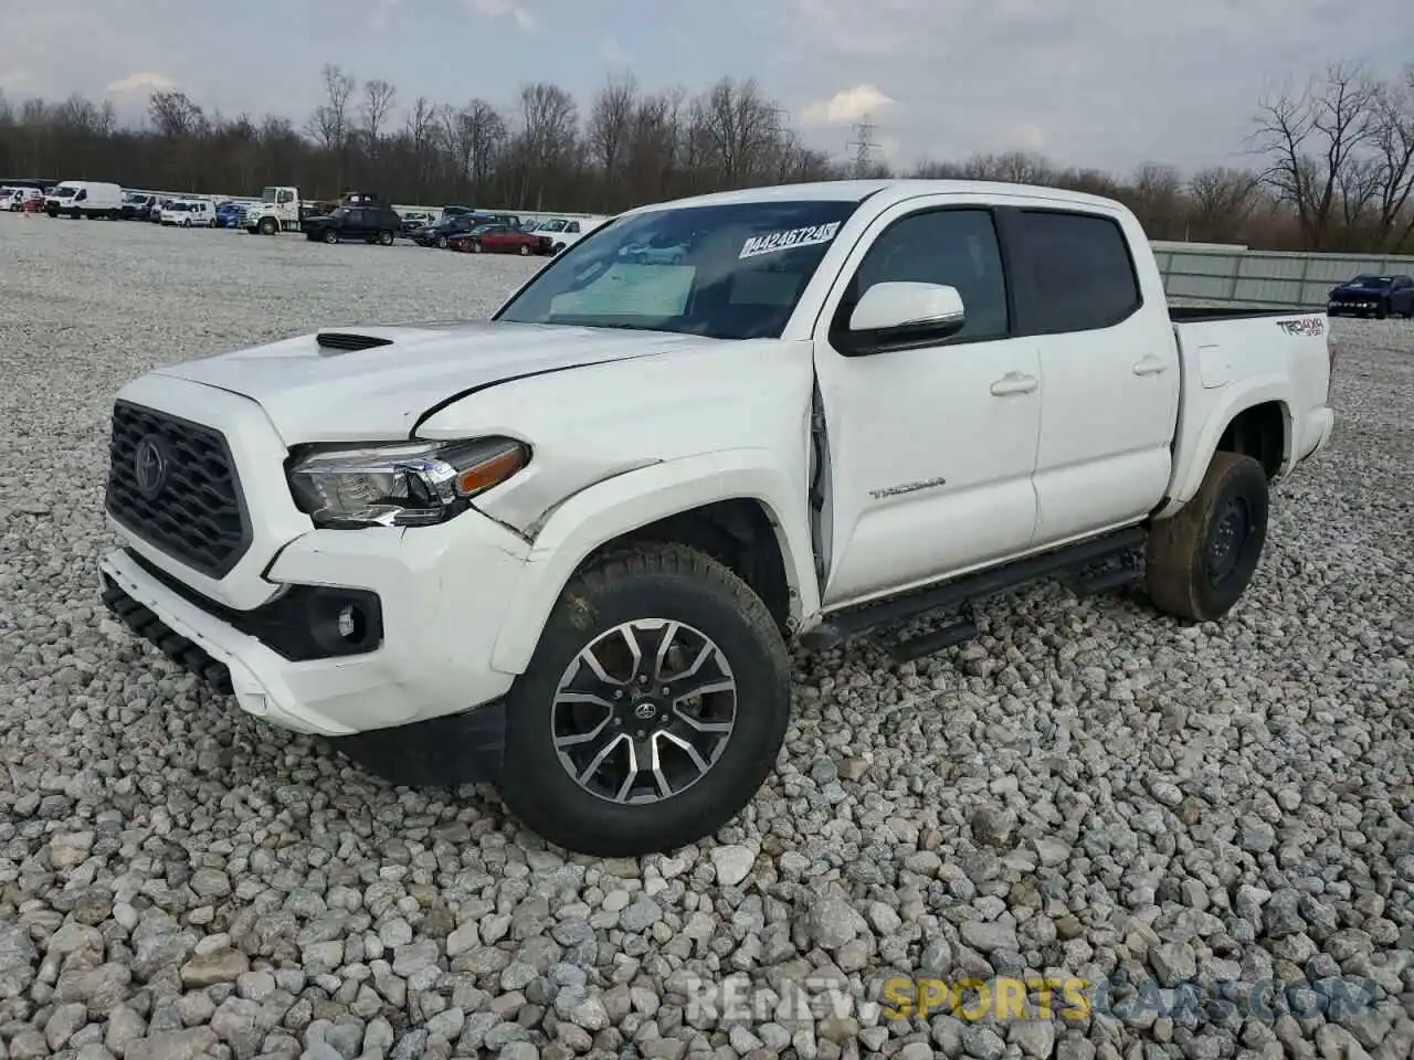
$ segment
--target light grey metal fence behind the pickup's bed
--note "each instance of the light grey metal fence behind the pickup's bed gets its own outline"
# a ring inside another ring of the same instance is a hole
[[[1414,257],[1298,254],[1155,242],[1164,290],[1182,301],[1321,308],[1338,283],[1360,273],[1414,276]]]

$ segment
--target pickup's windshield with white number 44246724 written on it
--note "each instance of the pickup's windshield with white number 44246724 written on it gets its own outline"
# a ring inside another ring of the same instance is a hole
[[[578,240],[495,319],[779,338],[854,201],[680,206]]]

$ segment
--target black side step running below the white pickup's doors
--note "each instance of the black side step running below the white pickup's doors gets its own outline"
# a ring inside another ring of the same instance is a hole
[[[800,643],[812,650],[839,647],[882,626],[906,622],[929,611],[963,605],[970,608],[974,602],[987,596],[994,596],[1056,574],[1086,571],[1104,561],[1118,560],[1123,563],[1123,557],[1130,550],[1143,546],[1147,536],[1148,530],[1145,527],[1133,526],[1102,537],[1052,548],[1048,553],[1029,555],[1004,567],[964,574],[942,585],[930,585],[926,589],[911,592],[906,596],[891,596],[877,603],[865,603],[864,606],[831,615],[819,626],[802,633]],[[1116,585],[1138,578],[1135,568],[1121,565],[1118,570],[1124,572],[1124,578],[1116,581]],[[1107,579],[1116,577],[1116,571],[1104,571],[1079,584],[1100,587]],[[1076,591],[1079,592],[1079,588]],[[1099,592],[1100,588],[1093,588],[1092,591]],[[962,620],[922,637],[904,642],[895,649],[895,657],[902,652],[909,659],[919,659],[952,644],[960,644],[976,635],[976,623],[970,619]]]

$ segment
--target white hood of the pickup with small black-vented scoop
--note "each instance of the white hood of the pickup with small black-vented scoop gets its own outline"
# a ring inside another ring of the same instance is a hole
[[[320,335],[335,336],[320,343]],[[286,445],[407,438],[460,394],[520,376],[714,345],[665,332],[491,321],[325,328],[158,369],[257,401]],[[369,345],[376,343],[376,345]]]

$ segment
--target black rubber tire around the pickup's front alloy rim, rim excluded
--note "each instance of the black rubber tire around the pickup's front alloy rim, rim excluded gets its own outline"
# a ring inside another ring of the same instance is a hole
[[[601,799],[561,766],[551,704],[574,657],[622,622],[679,619],[721,649],[737,683],[735,728],[686,790],[652,803]],[[577,574],[550,613],[526,673],[506,697],[496,789],[544,840],[592,856],[666,852],[732,820],[775,767],[790,718],[790,657],[761,598],[735,574],[679,544],[605,555]]]

